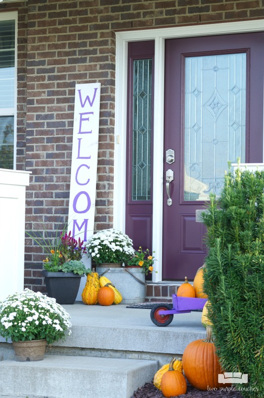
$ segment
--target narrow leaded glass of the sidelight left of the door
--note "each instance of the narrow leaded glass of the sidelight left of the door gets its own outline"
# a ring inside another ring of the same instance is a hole
[[[150,200],[152,60],[133,66],[132,200]]]

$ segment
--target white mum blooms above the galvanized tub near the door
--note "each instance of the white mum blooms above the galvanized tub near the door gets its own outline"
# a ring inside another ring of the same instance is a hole
[[[88,257],[96,264],[126,263],[135,253],[132,240],[114,228],[96,232],[86,248]]]

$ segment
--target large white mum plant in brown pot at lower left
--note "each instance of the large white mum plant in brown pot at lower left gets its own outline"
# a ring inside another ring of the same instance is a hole
[[[51,344],[71,334],[69,319],[55,298],[29,289],[0,301],[0,335],[6,341],[46,339]]]

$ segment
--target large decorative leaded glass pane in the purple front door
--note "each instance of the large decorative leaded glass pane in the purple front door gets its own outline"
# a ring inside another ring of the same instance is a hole
[[[246,53],[186,57],[184,200],[219,196],[245,147]]]

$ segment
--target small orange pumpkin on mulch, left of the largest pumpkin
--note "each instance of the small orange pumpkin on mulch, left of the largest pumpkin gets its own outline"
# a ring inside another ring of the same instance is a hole
[[[174,397],[186,394],[187,383],[185,377],[178,370],[174,370],[175,358],[172,358],[169,370],[164,373],[161,380],[161,390],[164,397]]]

